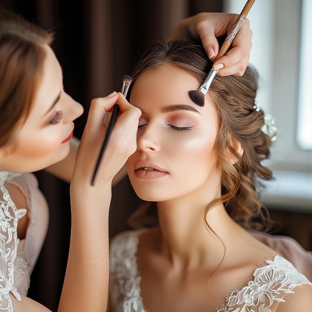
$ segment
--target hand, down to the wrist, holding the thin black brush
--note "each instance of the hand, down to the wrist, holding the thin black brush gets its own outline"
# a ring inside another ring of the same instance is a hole
[[[116,103],[119,105],[119,114],[97,172],[98,185],[103,187],[103,183],[111,183],[128,157],[136,151],[141,111],[131,105],[121,93],[114,92],[107,97],[94,99],[76,157],[75,166],[79,166],[80,170],[74,170],[72,183],[81,184],[83,180],[83,184],[92,188],[94,166],[108,129],[103,120],[107,112],[113,111]]]

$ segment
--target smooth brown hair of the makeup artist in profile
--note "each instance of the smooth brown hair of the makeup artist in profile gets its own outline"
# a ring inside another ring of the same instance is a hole
[[[14,137],[31,109],[42,77],[44,44],[52,34],[0,9],[0,147]]]

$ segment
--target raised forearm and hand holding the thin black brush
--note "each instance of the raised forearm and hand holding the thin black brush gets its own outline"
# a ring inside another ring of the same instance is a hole
[[[94,164],[107,129],[103,125],[104,115],[117,101],[121,114],[92,186]],[[70,186],[71,240],[59,312],[106,311],[111,183],[137,148],[140,116],[141,111],[121,93],[91,103]]]

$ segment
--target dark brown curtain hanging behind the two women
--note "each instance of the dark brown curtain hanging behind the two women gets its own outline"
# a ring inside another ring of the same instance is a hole
[[[167,37],[184,17],[222,11],[222,0],[0,0],[0,5],[55,32],[52,48],[65,90],[85,108],[75,123],[78,138],[91,99],[120,90],[144,43]],[[50,206],[50,225],[28,296],[56,311],[69,246],[69,185],[43,171],[35,174]],[[126,220],[138,203],[127,178],[113,189],[111,237],[128,229]]]

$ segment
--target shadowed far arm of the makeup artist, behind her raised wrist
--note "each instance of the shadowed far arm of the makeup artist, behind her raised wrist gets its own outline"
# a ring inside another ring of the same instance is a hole
[[[54,163],[44,169],[45,171],[57,176],[58,178],[68,183],[70,183],[72,175],[73,175],[75,159],[76,159],[76,154],[77,154],[80,140],[76,137],[72,137],[69,143],[70,143],[70,152],[68,156],[64,158],[63,160],[57,163]],[[127,175],[127,168],[126,166],[123,166],[120,169],[120,171],[114,176],[112,185],[113,186],[116,185],[126,175]]]

